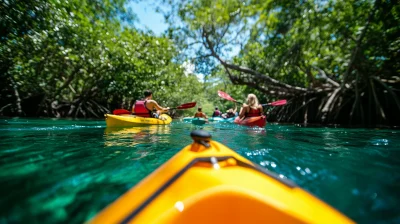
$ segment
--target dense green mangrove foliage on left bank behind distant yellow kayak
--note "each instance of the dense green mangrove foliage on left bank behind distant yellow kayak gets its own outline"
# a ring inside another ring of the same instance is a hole
[[[197,80],[174,61],[175,45],[131,26],[126,3],[3,1],[0,112],[102,117],[145,89],[164,105],[192,100]]]

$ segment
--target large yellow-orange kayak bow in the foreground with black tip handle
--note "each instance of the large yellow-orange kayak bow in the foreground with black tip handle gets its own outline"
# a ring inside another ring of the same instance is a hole
[[[354,223],[207,132],[191,136],[191,145],[89,223]]]

